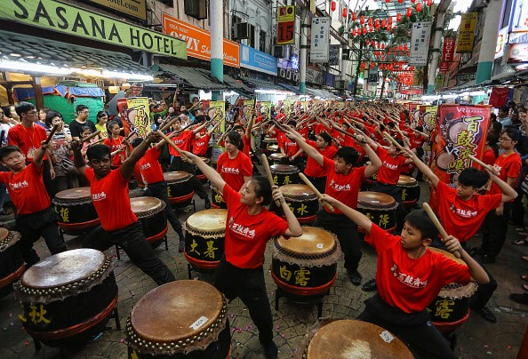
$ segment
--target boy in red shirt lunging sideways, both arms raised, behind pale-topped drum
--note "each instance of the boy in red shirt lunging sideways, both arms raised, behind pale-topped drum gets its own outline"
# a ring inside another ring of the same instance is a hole
[[[128,196],[128,180],[135,164],[145,155],[148,146],[157,140],[156,133],[150,132],[147,140],[141,142],[116,170],[111,169],[108,146],[92,145],[88,148],[86,156],[90,168],[84,164],[81,144],[73,141],[71,148],[77,170],[90,182],[92,203],[100,218],[100,227],[84,237],[83,247],[106,251],[119,244],[132,263],[161,285],[176,279],[145,239],[143,227],[132,211]]]

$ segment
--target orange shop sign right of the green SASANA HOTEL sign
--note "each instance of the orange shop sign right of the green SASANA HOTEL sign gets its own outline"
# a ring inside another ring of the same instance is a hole
[[[187,55],[211,61],[211,33],[187,22],[162,14],[164,33],[187,43]],[[224,39],[224,65],[240,68],[238,43]]]

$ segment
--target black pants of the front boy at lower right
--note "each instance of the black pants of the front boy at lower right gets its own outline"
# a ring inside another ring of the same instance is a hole
[[[449,342],[429,320],[427,309],[417,313],[405,313],[397,307],[391,307],[376,294],[364,301],[366,307],[357,319],[376,324],[407,342],[414,354],[422,359],[456,358],[452,354]]]

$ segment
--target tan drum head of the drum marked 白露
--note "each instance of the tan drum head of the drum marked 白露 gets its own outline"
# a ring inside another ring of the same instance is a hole
[[[276,243],[284,251],[299,256],[321,256],[332,251],[336,246],[332,233],[317,227],[302,227],[300,237],[285,239],[281,236]]]

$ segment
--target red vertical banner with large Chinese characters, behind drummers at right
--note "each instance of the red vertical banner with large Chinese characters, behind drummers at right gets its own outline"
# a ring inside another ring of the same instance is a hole
[[[477,166],[468,156],[482,159],[491,114],[491,106],[441,105],[438,108],[430,164],[438,179],[451,184],[462,170]],[[434,191],[431,203],[437,207]]]

